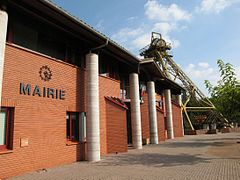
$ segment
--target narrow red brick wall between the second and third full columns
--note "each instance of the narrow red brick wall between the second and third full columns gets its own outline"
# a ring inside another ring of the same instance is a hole
[[[142,122],[142,139],[149,138],[150,140],[150,122],[148,117],[148,95],[143,95],[143,102],[140,106],[141,110],[141,122]]]

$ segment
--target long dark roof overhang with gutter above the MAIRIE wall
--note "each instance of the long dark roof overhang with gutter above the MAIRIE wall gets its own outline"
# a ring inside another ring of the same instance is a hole
[[[49,0],[8,0],[7,2],[10,5],[14,5],[15,7],[33,13],[39,18],[48,21],[52,25],[59,26],[62,30],[77,36],[79,39],[87,41],[90,43],[91,48],[105,44],[108,40],[109,43],[108,46],[104,48],[105,51],[109,51],[110,53],[119,56],[119,60],[127,61],[133,65],[138,64],[140,61],[135,55],[131,54],[124,47],[95,30],[84,21],[72,16],[67,11],[58,7]]]

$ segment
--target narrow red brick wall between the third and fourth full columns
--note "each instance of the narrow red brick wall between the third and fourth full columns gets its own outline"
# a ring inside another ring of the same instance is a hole
[[[165,122],[163,111],[157,109],[157,125],[158,125],[158,142],[165,141]]]

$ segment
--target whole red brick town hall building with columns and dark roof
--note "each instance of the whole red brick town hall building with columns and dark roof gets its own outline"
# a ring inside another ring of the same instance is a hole
[[[0,1],[0,31],[0,178],[183,136],[153,60],[47,0]]]

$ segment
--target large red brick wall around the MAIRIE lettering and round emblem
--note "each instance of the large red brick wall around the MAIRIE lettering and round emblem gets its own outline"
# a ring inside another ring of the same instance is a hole
[[[43,65],[52,71],[49,82],[39,77]],[[2,106],[15,106],[14,138],[13,151],[0,154],[0,178],[79,159],[79,145],[66,144],[66,111],[85,111],[84,74],[66,63],[6,46]],[[63,89],[65,100],[22,95],[20,82]],[[28,138],[28,147],[20,147],[21,138]]]

